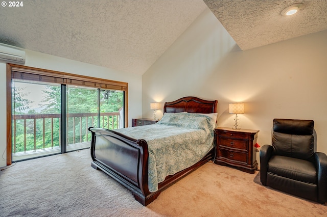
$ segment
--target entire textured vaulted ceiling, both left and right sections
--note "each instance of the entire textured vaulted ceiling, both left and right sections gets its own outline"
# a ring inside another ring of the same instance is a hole
[[[303,3],[292,17],[281,11]],[[327,29],[320,0],[29,0],[0,8],[0,42],[143,74],[205,10],[242,50]]]

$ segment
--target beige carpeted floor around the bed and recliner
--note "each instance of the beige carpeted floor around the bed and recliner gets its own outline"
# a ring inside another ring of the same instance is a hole
[[[0,216],[326,216],[327,206],[274,191],[260,174],[206,164],[147,207],[91,168],[89,150],[17,162],[0,172]]]

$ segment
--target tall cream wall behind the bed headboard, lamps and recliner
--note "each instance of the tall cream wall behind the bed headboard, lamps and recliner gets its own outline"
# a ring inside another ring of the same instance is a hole
[[[323,31],[242,51],[207,9],[143,75],[143,117],[152,117],[150,102],[197,96],[217,99],[218,126],[232,127],[228,102],[245,102],[239,126],[260,130],[261,146],[271,143],[273,118],[312,119],[317,151],[327,153],[326,38]]]

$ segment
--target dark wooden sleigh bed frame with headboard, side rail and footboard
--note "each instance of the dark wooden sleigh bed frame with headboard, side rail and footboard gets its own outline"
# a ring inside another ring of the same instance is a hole
[[[217,100],[208,101],[197,97],[183,97],[166,102],[164,113],[216,113],[217,102]],[[214,149],[212,149],[195,165],[168,176],[158,183],[158,191],[150,192],[147,142],[143,139],[135,140],[114,130],[93,127],[89,127],[89,130],[92,133],[91,166],[102,170],[128,188],[134,198],[144,206],[153,202],[168,186],[214,158]]]

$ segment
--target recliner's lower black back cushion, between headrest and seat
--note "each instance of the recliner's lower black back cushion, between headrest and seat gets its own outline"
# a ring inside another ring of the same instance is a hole
[[[275,155],[314,160],[313,135],[295,135],[273,132],[272,147]]]

